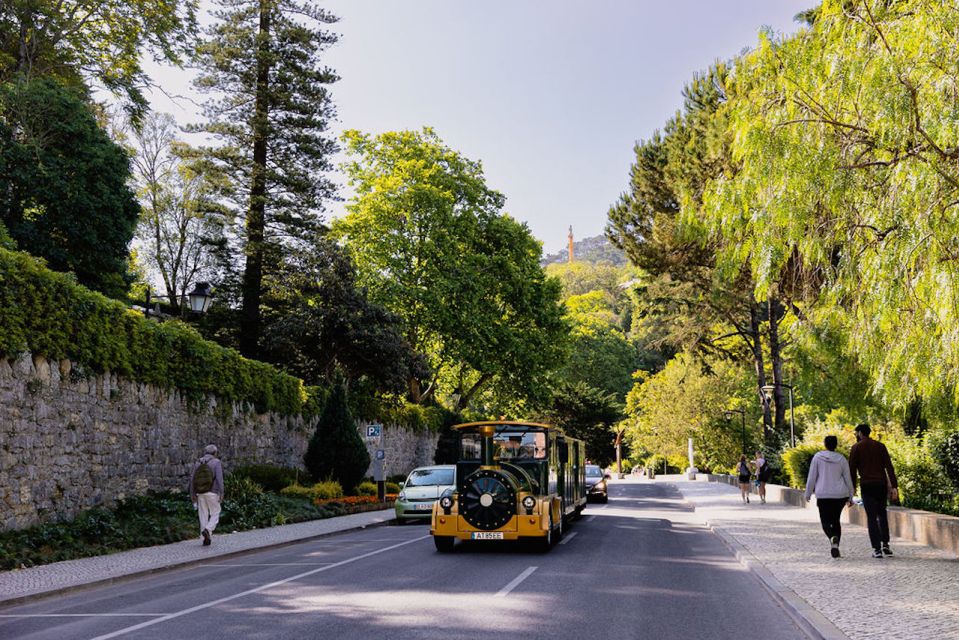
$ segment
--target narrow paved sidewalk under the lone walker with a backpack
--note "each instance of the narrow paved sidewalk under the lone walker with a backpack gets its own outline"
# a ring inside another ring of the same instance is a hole
[[[393,517],[393,509],[368,511],[269,529],[224,534],[217,532],[213,536],[213,544],[209,547],[202,546],[197,536],[195,540],[173,544],[131,549],[80,560],[66,560],[29,569],[0,571],[0,606],[34,596],[50,595],[169,567],[203,562],[210,558],[280,546],[351,529],[382,525],[393,520]]]

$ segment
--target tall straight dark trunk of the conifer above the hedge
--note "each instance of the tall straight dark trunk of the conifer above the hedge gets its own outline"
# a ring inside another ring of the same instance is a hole
[[[246,217],[246,268],[243,271],[243,308],[240,317],[240,353],[247,358],[257,356],[260,342],[260,297],[263,287],[264,230],[266,228],[267,136],[270,117],[272,4],[272,0],[260,0],[256,104],[253,114],[252,185],[250,210]]]

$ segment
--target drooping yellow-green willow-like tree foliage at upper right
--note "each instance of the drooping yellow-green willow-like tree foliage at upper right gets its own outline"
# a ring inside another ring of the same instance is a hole
[[[826,0],[765,35],[728,105],[735,176],[705,203],[760,294],[794,274],[887,399],[959,381],[959,13],[937,0]]]

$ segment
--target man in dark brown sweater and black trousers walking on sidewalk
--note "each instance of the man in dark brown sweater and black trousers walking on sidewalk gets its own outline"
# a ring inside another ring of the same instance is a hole
[[[869,542],[872,544],[872,557],[891,556],[889,548],[889,519],[886,514],[886,499],[897,500],[899,481],[892,468],[886,445],[869,437],[872,429],[868,424],[856,427],[856,444],[849,452],[849,471],[853,487],[859,482],[859,495],[866,510],[866,524],[869,528]]]

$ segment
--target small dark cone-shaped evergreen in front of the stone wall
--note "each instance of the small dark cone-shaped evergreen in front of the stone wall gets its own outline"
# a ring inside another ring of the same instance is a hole
[[[303,455],[303,463],[314,480],[331,478],[348,493],[366,475],[370,454],[350,414],[346,384],[342,378],[333,384],[316,431]]]

